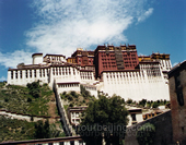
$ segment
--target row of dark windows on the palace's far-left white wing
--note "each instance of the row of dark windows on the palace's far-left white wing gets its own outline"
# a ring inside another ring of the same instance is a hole
[[[18,78],[19,77],[19,73],[20,73],[20,78],[22,78],[23,77],[23,72],[22,71],[15,71],[15,78]],[[45,69],[39,69],[39,76],[42,77],[42,76],[44,76],[45,77],[45,73],[47,73],[47,75],[48,75],[48,70],[45,70]],[[43,75],[42,75],[43,74]],[[28,77],[28,75],[30,75],[30,77],[36,77],[37,75],[36,75],[36,70],[34,70],[34,74],[33,74],[33,71],[32,70],[25,70],[25,77],[27,78]],[[13,77],[13,71],[11,71],[11,78],[13,80],[14,77]]]

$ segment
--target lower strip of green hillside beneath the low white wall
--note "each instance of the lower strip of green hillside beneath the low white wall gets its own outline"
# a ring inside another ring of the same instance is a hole
[[[62,129],[57,129],[48,120],[27,122],[0,116],[0,142],[62,137]]]

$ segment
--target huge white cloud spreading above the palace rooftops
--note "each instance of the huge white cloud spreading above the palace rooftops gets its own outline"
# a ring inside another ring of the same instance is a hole
[[[35,0],[42,21],[26,33],[27,45],[39,52],[70,56],[75,48],[126,43],[124,31],[147,19],[146,0]],[[140,15],[140,17],[139,17]]]

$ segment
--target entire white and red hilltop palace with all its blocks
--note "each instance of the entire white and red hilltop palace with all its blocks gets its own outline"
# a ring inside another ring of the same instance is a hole
[[[135,45],[97,46],[92,50],[78,48],[70,58],[62,55],[34,53],[32,64],[18,64],[8,70],[8,84],[26,85],[39,80],[58,93],[80,92],[83,85],[95,97],[97,90],[107,96],[119,95],[133,100],[167,99],[170,55],[139,56]]]

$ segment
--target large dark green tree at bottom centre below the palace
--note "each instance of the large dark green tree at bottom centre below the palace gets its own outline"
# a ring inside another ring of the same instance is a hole
[[[128,111],[119,96],[100,96],[89,104],[78,128],[79,133],[88,145],[102,144],[103,135],[107,144],[119,145],[119,140],[125,137],[127,116]],[[116,130],[112,130],[114,126]]]

